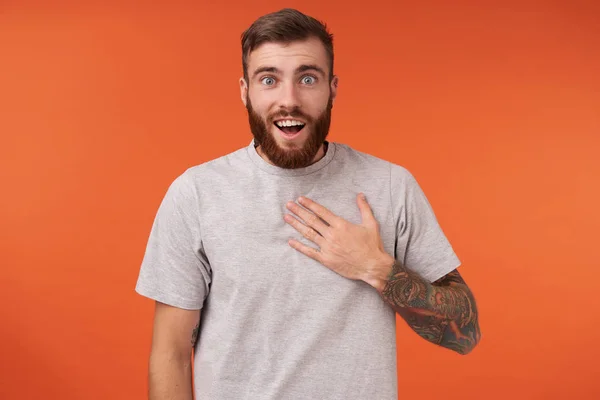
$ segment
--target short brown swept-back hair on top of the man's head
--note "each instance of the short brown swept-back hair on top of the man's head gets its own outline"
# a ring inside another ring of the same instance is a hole
[[[316,37],[329,58],[329,80],[333,79],[333,35],[325,23],[293,8],[263,15],[242,34],[242,68],[248,81],[248,56],[263,43],[290,43]]]

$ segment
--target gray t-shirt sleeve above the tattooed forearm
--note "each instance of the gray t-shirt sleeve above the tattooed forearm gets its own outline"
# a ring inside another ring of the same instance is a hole
[[[433,208],[415,177],[392,165],[392,202],[396,222],[396,258],[429,282],[460,266]]]

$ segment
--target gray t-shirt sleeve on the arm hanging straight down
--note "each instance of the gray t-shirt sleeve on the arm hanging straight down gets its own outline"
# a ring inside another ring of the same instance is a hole
[[[184,173],[169,186],[150,231],[135,290],[142,296],[199,310],[208,295],[209,262],[202,248],[198,193]]]

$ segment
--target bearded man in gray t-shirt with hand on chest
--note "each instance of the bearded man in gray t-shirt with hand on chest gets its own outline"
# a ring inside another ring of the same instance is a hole
[[[242,64],[254,139],[178,176],[151,230],[150,398],[396,399],[396,313],[457,353],[479,341],[460,262],[406,169],[326,140],[324,25],[263,16]]]

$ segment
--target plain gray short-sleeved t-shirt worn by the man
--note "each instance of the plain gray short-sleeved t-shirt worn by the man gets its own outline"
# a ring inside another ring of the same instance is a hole
[[[396,400],[396,316],[374,288],[288,245],[315,246],[288,225],[307,196],[360,223],[364,192],[385,250],[434,281],[460,262],[414,177],[330,142],[321,160],[285,170],[254,141],[192,167],[156,215],[136,291],[202,309],[196,399]]]

